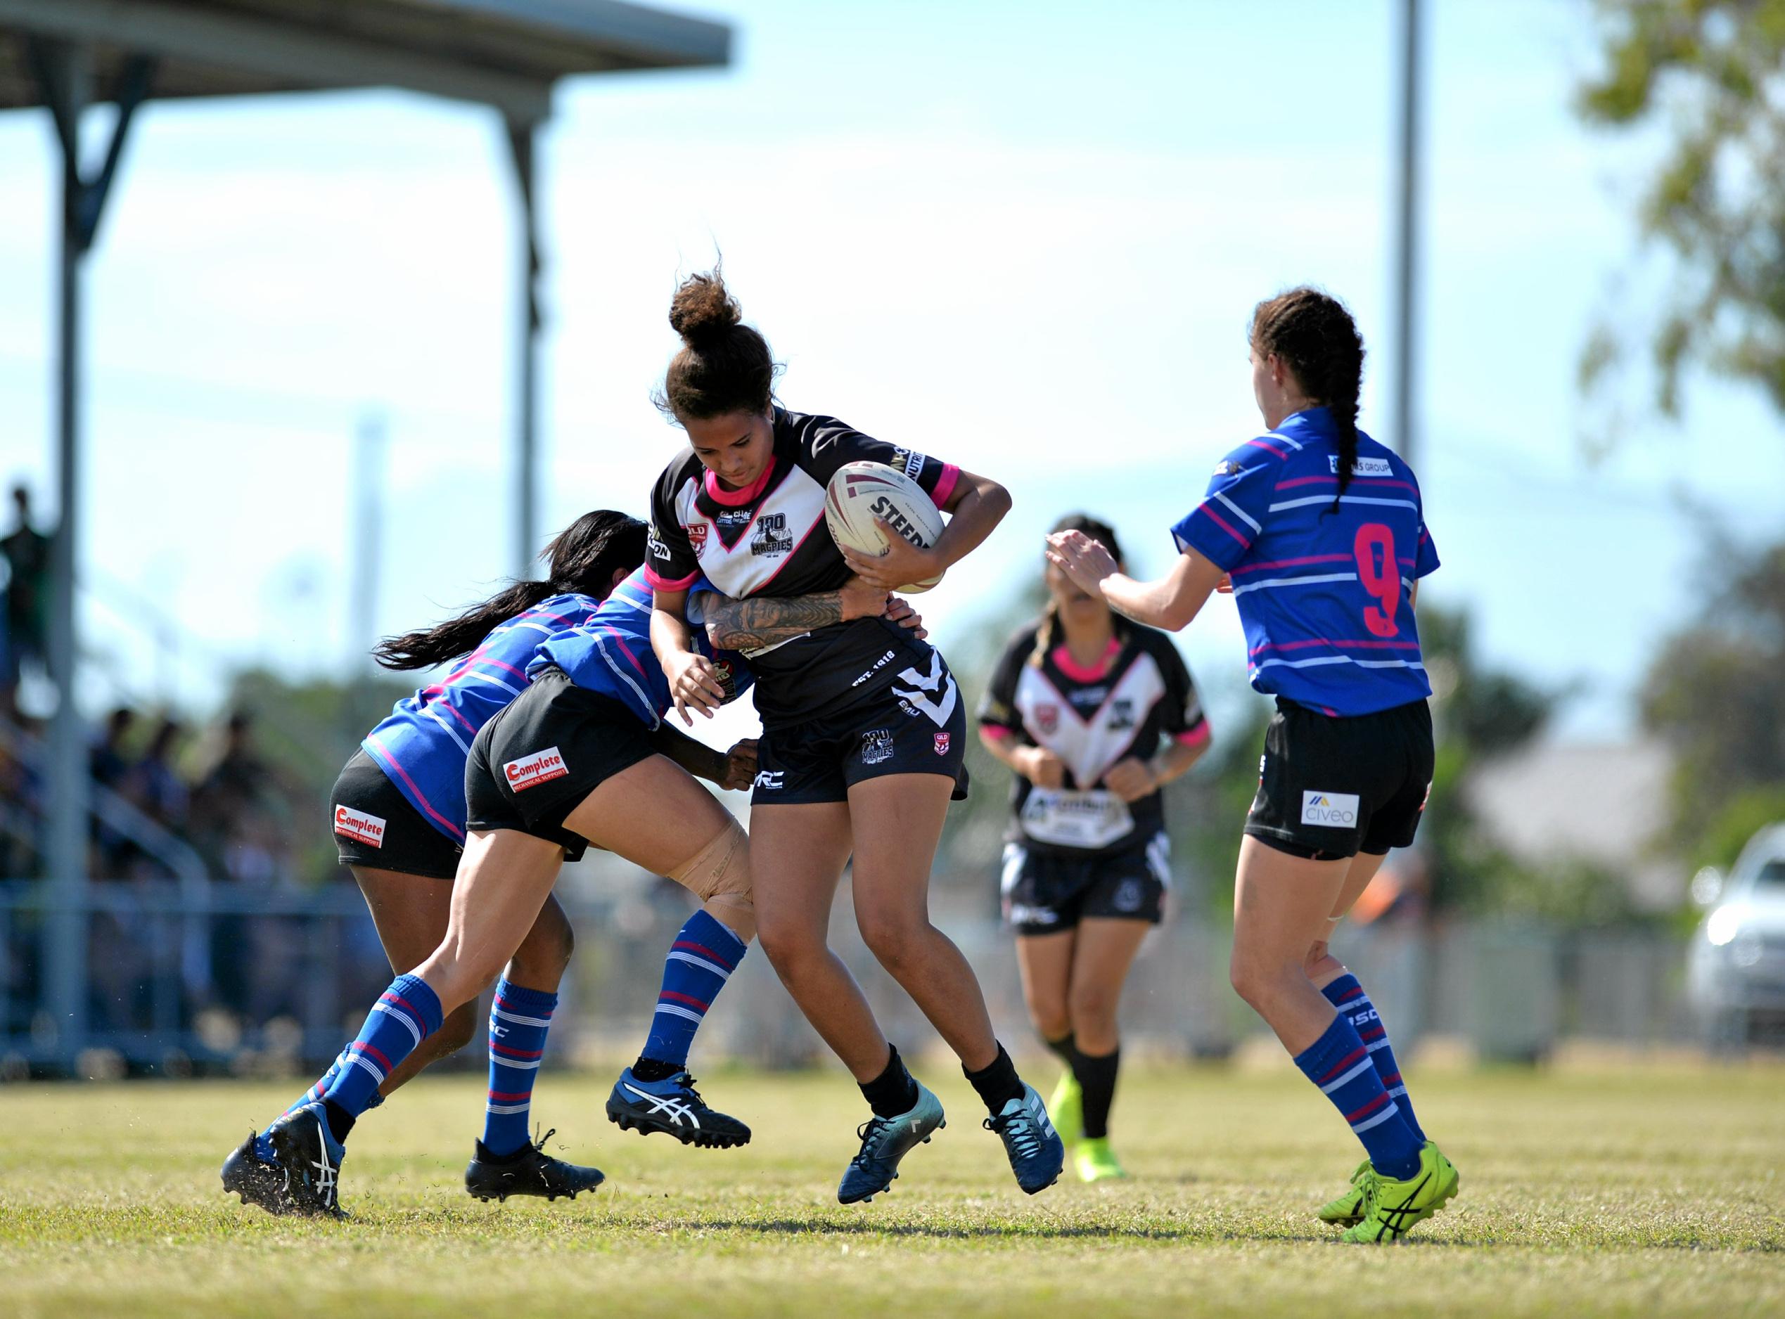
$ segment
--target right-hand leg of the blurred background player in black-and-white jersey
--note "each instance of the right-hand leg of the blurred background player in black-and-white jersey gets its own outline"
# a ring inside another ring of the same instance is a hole
[[[1078,1042],[1075,1071],[1083,1092],[1083,1141],[1073,1155],[1080,1182],[1123,1176],[1108,1144],[1116,1074],[1121,1069],[1116,1008],[1148,928],[1144,917],[1085,916],[1078,923],[1067,1010]]]

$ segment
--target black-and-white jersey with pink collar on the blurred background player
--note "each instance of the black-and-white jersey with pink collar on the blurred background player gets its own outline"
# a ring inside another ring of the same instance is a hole
[[[1208,721],[1191,671],[1164,632],[1117,623],[1103,662],[1083,669],[1064,641],[1046,650],[1046,621],[1010,639],[980,703],[980,726],[1042,746],[1066,766],[1062,787],[1016,775],[1010,839],[1032,850],[1105,853],[1150,839],[1166,825],[1158,792],[1123,801],[1103,775],[1126,757],[1151,759],[1162,739],[1198,744]]]

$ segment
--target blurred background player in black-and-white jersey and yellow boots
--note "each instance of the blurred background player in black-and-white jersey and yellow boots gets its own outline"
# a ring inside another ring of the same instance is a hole
[[[1121,562],[1107,523],[1073,514],[1053,530],[1083,532]],[[1016,771],[1003,908],[1028,1016],[1067,1067],[1048,1114],[1078,1178],[1101,1182],[1123,1176],[1108,1142],[1116,1005],[1171,883],[1160,787],[1208,750],[1208,721],[1169,637],[1053,564],[1044,575],[1048,609],[1005,646],[980,741]]]

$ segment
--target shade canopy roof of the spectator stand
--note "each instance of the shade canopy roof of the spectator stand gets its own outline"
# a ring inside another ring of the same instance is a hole
[[[544,120],[577,73],[725,64],[725,23],[618,0],[0,0],[0,109],[43,104],[30,37],[93,50],[93,96],[155,61],[154,96],[403,87]]]

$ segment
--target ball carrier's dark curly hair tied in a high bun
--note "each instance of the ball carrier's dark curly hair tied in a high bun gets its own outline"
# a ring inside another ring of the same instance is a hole
[[[662,412],[703,421],[769,411],[780,366],[768,339],[744,325],[744,309],[725,291],[718,266],[682,280],[669,300],[669,325],[682,336],[682,352],[669,359],[655,396]]]

